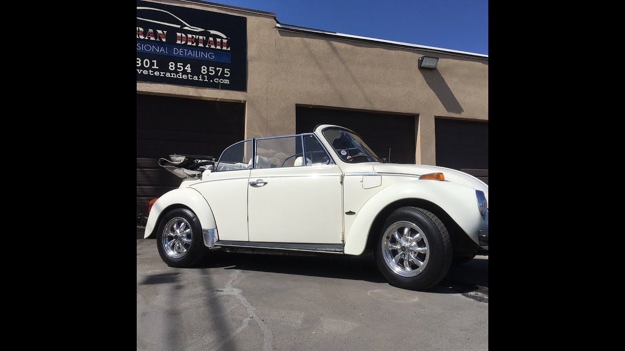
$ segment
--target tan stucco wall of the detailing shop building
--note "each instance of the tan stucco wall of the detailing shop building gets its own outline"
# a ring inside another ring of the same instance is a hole
[[[294,134],[296,105],[417,116],[416,162],[436,164],[434,117],[488,119],[488,60],[276,28],[274,17],[158,1],[247,17],[247,92],[137,82],[137,91],[246,102],[246,137]],[[279,14],[277,14],[279,17]],[[436,70],[418,69],[421,56]]]

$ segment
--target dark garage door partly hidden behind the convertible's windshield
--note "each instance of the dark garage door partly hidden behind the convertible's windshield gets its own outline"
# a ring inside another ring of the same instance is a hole
[[[391,162],[414,164],[415,116],[298,106],[295,122],[296,134],[312,132],[317,124],[346,127],[359,134],[377,156],[388,158],[391,149]]]

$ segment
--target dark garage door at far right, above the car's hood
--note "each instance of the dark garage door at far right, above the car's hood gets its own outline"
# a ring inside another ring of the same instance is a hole
[[[436,166],[459,169],[488,184],[488,122],[437,118]]]

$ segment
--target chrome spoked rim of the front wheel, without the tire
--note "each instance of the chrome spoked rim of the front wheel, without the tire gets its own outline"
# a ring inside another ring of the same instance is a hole
[[[386,229],[381,249],[386,264],[402,277],[421,273],[429,259],[429,245],[423,230],[405,220]]]

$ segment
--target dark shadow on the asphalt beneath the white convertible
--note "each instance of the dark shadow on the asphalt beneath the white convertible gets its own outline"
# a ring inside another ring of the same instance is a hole
[[[296,256],[226,253],[211,250],[199,268],[241,269],[293,275],[309,275],[337,279],[387,283],[377,269],[373,254],[362,256]],[[429,290],[437,294],[463,294],[488,287],[488,260],[474,259],[464,265],[452,266],[447,276]]]

